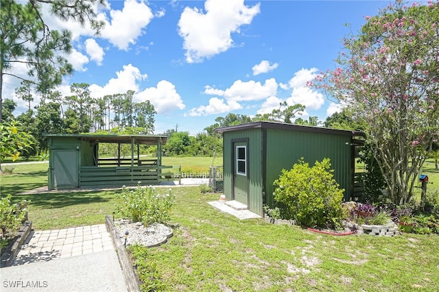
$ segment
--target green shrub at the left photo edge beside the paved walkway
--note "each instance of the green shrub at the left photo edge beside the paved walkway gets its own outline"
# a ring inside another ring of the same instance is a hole
[[[0,227],[4,237],[13,237],[19,230],[25,217],[28,202],[23,200],[18,204],[11,203],[11,195],[0,199]]]

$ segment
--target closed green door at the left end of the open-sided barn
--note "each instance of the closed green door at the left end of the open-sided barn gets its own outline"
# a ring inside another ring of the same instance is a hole
[[[77,188],[78,150],[54,149],[53,182],[55,188]]]

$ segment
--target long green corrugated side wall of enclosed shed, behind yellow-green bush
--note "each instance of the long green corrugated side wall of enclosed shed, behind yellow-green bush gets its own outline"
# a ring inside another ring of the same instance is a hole
[[[335,169],[335,180],[345,189],[344,197],[351,195],[351,143],[349,136],[267,130],[266,192],[267,204],[273,204],[273,182],[282,169],[292,169],[303,157],[310,166],[316,160],[331,159],[331,169]],[[346,145],[347,143],[347,145]]]

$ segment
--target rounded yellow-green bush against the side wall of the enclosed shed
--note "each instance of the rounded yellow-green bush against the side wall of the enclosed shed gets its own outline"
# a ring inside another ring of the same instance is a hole
[[[329,158],[316,161],[313,167],[302,158],[291,170],[282,170],[274,182],[274,199],[287,209],[289,218],[285,219],[308,227],[341,227],[344,189],[339,188],[330,167]]]

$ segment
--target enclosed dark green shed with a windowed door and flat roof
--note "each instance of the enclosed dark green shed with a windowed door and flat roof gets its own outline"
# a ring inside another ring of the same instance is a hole
[[[282,169],[304,158],[309,165],[331,159],[335,180],[350,199],[354,188],[355,146],[363,132],[259,121],[220,127],[224,147],[224,195],[263,216],[274,205],[273,182]]]

